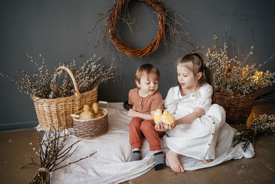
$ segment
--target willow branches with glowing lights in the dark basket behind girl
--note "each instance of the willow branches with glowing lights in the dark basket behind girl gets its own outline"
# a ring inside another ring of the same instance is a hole
[[[214,35],[214,40],[217,43],[217,35]],[[212,45],[208,48],[206,53],[206,65],[214,73],[214,87],[217,92],[226,92],[229,94],[236,94],[236,96],[249,96],[254,94],[257,89],[265,88],[272,83],[275,83],[275,72],[259,71],[259,69],[267,63],[256,66],[247,65],[248,57],[253,54],[251,47],[249,54],[243,61],[239,57],[228,57],[226,42],[223,48],[218,44]],[[271,60],[274,57],[270,57]]]

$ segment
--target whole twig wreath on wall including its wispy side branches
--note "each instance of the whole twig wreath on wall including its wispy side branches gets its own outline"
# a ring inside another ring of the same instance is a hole
[[[170,46],[175,50],[185,50],[179,47],[180,40],[191,43],[191,38],[189,33],[186,32],[184,25],[177,21],[177,17],[181,20],[187,21],[180,14],[168,10],[164,5],[162,5],[158,0],[136,0],[148,4],[153,7],[154,12],[157,15],[158,29],[157,36],[155,39],[144,48],[133,48],[128,43],[124,43],[118,37],[118,23],[119,20],[126,21],[129,18],[128,6],[131,0],[118,0],[113,2],[113,6],[109,8],[104,13],[100,13],[100,18],[95,23],[94,27],[89,31],[89,36],[85,45],[89,44],[91,34],[100,27],[98,32],[98,38],[96,41],[95,48],[106,50],[106,55],[110,61],[121,61],[121,57],[117,52],[123,52],[128,57],[139,57],[148,56],[155,52],[159,47],[159,43],[164,41],[166,46]],[[187,21],[188,22],[188,21]],[[127,22],[126,22],[127,23]],[[101,26],[98,26],[100,25]],[[131,29],[130,23],[127,23]],[[172,43],[175,43],[173,45]],[[85,45],[83,45],[82,51],[80,51],[79,57],[83,57],[83,51],[85,50]]]

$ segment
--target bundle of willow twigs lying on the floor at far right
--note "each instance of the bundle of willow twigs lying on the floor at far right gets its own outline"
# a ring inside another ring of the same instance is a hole
[[[275,136],[275,114],[260,114],[257,118],[256,114],[253,113],[250,121],[250,126],[234,137],[233,146],[244,142],[243,150],[245,150],[248,143],[254,143],[256,134]]]

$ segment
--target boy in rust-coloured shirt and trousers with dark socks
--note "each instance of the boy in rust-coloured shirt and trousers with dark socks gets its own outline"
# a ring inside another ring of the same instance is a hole
[[[150,150],[154,151],[155,170],[164,167],[164,154],[160,145],[159,136],[164,132],[155,130],[153,114],[156,109],[163,110],[162,94],[157,91],[160,74],[159,70],[151,64],[141,65],[135,72],[137,88],[129,91],[129,104],[133,105],[128,116],[133,117],[129,123],[130,144],[133,154],[130,161],[141,159],[142,134],[146,137]]]

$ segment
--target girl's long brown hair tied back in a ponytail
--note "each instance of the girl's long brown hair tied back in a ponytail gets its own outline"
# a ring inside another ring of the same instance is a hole
[[[201,79],[199,79],[199,83],[209,83],[212,85],[213,88],[213,95],[212,99],[214,99],[214,80],[213,80],[213,74],[211,70],[204,65],[203,63],[203,54],[199,52],[198,50],[192,50],[189,54],[186,54],[184,57],[181,57],[177,60],[177,65],[181,63],[192,63],[193,67],[190,68],[195,76],[199,72],[202,73]]]

